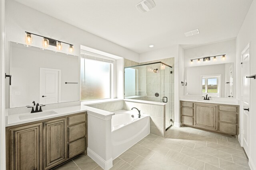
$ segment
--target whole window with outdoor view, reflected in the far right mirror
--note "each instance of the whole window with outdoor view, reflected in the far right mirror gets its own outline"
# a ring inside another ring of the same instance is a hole
[[[202,96],[208,94],[212,97],[221,96],[221,75],[202,76]]]

